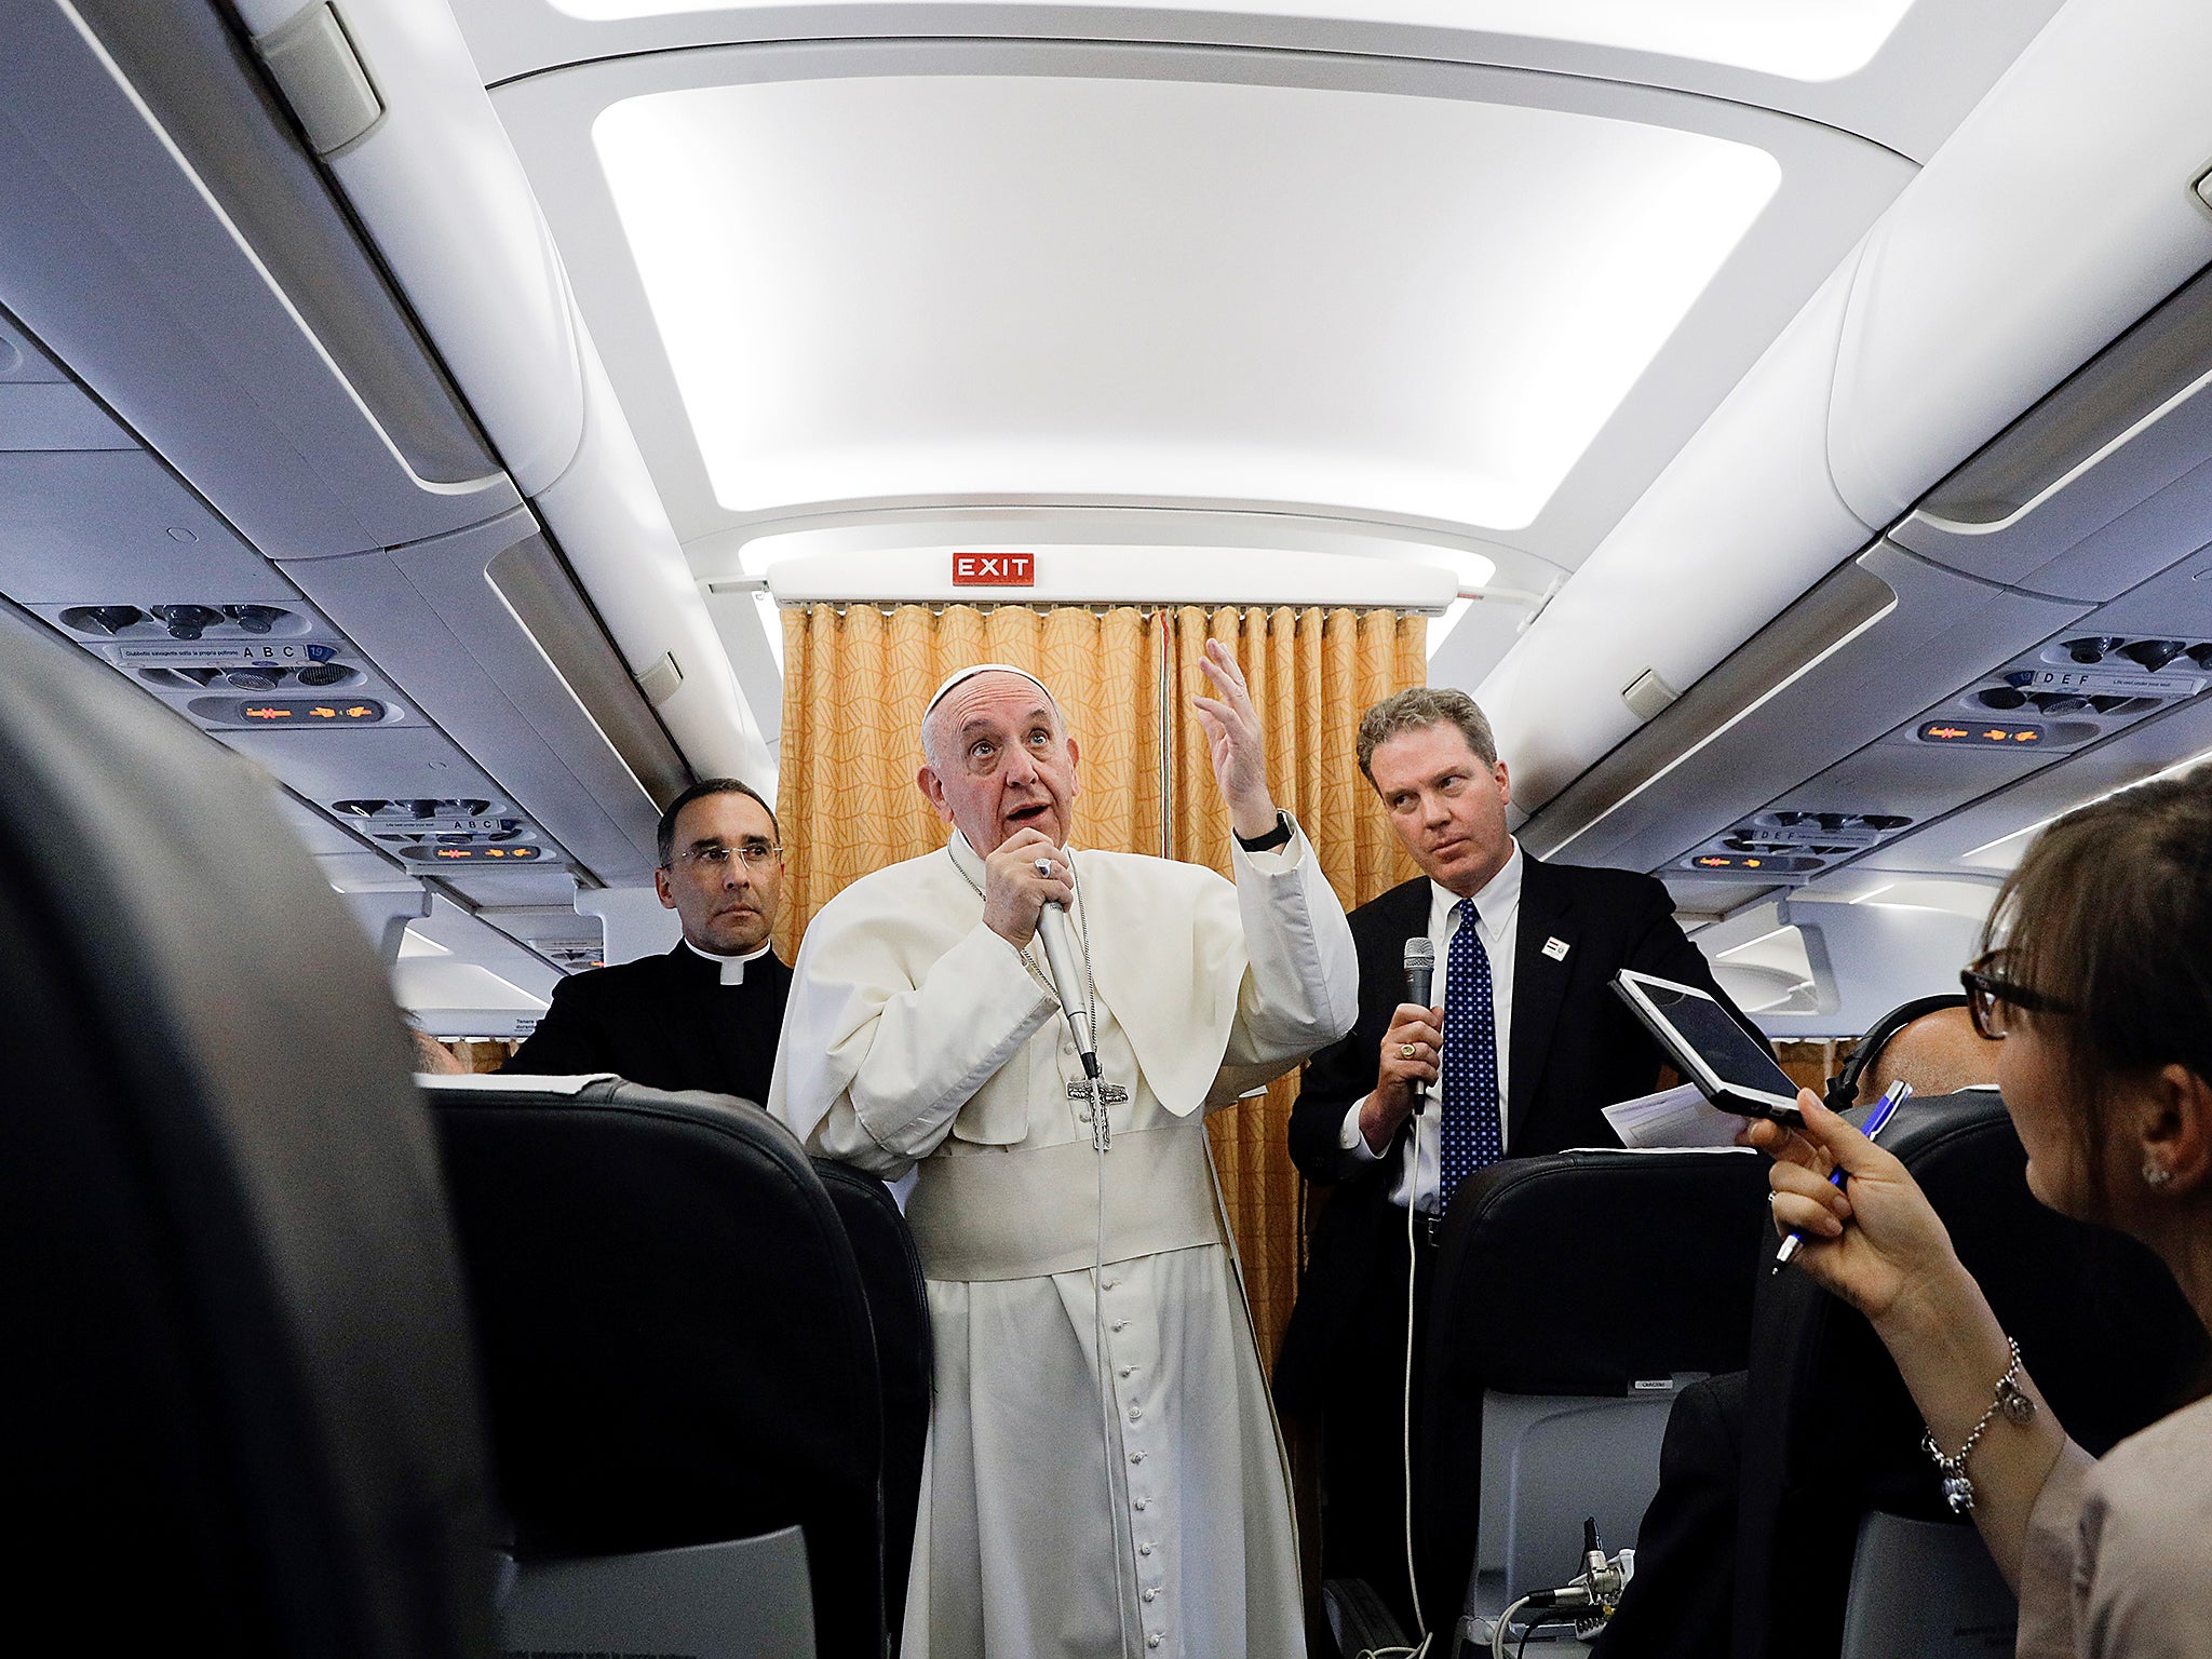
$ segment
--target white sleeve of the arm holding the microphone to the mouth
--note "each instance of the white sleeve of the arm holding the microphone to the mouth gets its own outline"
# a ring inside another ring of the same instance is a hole
[[[847,1082],[818,1121],[792,1126],[807,1150],[896,1179],[1057,1011],[1020,953],[980,922],[911,989],[801,980],[783,1042],[821,1042],[818,1064]]]

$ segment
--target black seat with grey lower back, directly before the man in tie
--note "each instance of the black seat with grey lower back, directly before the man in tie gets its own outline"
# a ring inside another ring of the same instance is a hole
[[[1635,1542],[1674,1389],[1745,1363],[1765,1192],[1736,1150],[1553,1152],[1460,1188],[1420,1380],[1431,1628],[1498,1610],[1489,1566],[1506,1599],[1564,1584],[1586,1515],[1608,1548]]]

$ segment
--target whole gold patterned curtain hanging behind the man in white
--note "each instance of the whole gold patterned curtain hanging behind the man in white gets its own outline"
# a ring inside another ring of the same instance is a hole
[[[914,783],[922,706],[945,675],[975,661],[1026,668],[1057,695],[1082,748],[1082,845],[1166,849],[1228,874],[1228,807],[1190,712],[1208,684],[1199,672],[1208,637],[1243,664],[1267,730],[1267,785],[1298,816],[1345,909],[1411,876],[1352,739],[1369,703],[1427,679],[1422,617],[816,604],[783,613],[783,960],[847,883],[945,845],[947,830]],[[1298,1175],[1287,1144],[1296,1093],[1292,1075],[1208,1119],[1270,1365],[1298,1292]]]

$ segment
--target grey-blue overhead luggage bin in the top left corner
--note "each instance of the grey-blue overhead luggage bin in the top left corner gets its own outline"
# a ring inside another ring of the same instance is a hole
[[[252,544],[520,498],[208,7],[11,4],[0,303]]]

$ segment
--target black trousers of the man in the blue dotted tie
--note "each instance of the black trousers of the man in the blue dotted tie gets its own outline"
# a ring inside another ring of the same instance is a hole
[[[1389,1263],[1338,1347],[1321,1400],[1321,1575],[1367,1579],[1411,1635],[1413,1590],[1405,1573],[1405,1221],[1383,1252]],[[1420,1480],[1420,1380],[1436,1250],[1413,1243],[1413,1471]],[[1431,1608],[1449,1628],[1458,1608]]]

